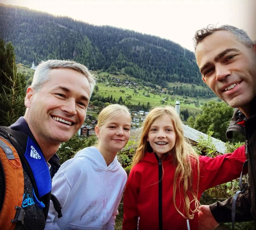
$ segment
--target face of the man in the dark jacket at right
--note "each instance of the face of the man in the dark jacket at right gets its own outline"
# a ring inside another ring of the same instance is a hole
[[[248,109],[256,95],[256,45],[247,48],[230,31],[216,31],[196,49],[203,81],[230,106]]]

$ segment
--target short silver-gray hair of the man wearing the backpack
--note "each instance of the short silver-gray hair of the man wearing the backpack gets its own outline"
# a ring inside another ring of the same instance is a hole
[[[34,73],[32,88],[38,92],[43,83],[48,81],[49,79],[49,71],[51,69],[58,68],[66,68],[66,69],[74,69],[75,71],[82,73],[88,80],[90,86],[90,97],[92,96],[92,92],[94,86],[96,84],[96,78],[92,73],[88,71],[86,66],[71,60],[47,60],[41,61],[40,64],[36,67],[36,71]]]

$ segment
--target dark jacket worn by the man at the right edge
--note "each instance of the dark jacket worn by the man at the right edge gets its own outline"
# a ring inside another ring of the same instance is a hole
[[[236,201],[235,221],[256,221],[256,99],[250,103],[250,117],[236,109],[226,132],[227,138],[232,138],[233,131],[245,136],[245,149],[247,147],[249,189],[239,194]],[[226,201],[210,205],[210,210],[217,222],[231,222],[233,197]]]

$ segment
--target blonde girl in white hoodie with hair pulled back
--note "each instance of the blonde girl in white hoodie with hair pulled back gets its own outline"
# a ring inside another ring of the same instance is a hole
[[[109,105],[98,117],[98,144],[63,163],[52,182],[62,206],[58,218],[51,202],[46,229],[114,229],[127,174],[116,154],[130,137],[131,115],[123,105]]]

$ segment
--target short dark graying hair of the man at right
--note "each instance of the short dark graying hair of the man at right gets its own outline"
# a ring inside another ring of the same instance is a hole
[[[236,36],[238,41],[240,41],[240,43],[245,45],[247,48],[252,48],[254,45],[254,42],[250,39],[248,34],[243,29],[238,29],[237,27],[230,26],[230,25],[223,25],[218,28],[214,25],[208,25],[207,27],[199,29],[195,32],[195,35],[193,37],[195,51],[196,51],[197,45],[203,39],[205,39],[205,37],[213,34],[215,31],[220,31],[220,30],[230,31]]]

